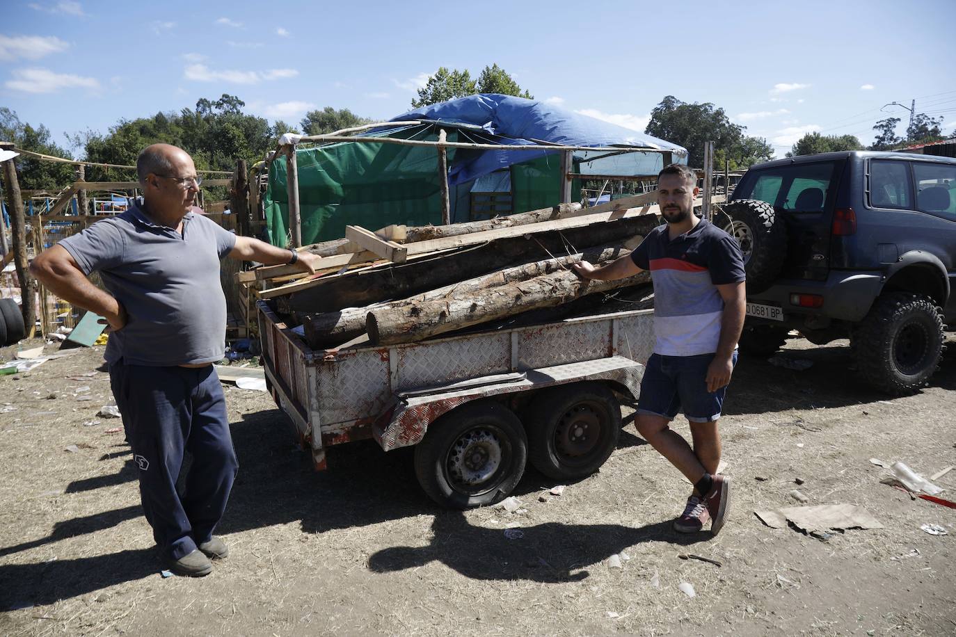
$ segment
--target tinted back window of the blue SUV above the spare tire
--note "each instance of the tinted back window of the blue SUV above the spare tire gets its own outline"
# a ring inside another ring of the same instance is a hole
[[[734,199],[756,199],[789,212],[822,212],[834,180],[836,162],[797,163],[751,171]]]

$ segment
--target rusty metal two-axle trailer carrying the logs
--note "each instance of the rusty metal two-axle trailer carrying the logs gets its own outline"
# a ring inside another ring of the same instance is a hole
[[[597,471],[617,445],[619,398],[637,399],[654,343],[646,309],[313,350],[274,301],[257,310],[267,384],[315,468],[353,440],[414,445],[424,491],[454,508],[507,498],[528,461],[557,480]]]

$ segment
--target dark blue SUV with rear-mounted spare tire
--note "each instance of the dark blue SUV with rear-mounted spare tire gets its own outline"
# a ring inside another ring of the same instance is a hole
[[[956,323],[956,159],[841,152],[750,168],[714,223],[741,244],[742,353],[769,355],[791,329],[850,338],[858,372],[912,393]]]

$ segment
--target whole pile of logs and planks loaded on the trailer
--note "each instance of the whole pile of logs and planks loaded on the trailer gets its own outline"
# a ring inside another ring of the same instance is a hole
[[[327,268],[260,295],[274,300],[288,325],[301,326],[316,350],[415,342],[515,317],[560,318],[615,290],[646,287],[646,272],[586,281],[573,265],[609,263],[636,247],[660,223],[650,205],[655,195],[376,233],[349,226],[345,239],[302,248]],[[261,269],[247,276],[290,274],[285,266]]]

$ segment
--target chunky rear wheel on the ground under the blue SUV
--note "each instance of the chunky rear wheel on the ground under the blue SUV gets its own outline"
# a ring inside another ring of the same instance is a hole
[[[936,372],[943,353],[943,320],[923,294],[889,292],[877,298],[853,333],[859,373],[894,395],[913,393]]]

